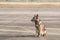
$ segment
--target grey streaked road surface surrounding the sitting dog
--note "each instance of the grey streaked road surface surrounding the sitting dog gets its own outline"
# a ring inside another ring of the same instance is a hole
[[[47,37],[36,37],[35,14],[44,23]],[[0,8],[0,40],[60,40],[60,8]]]

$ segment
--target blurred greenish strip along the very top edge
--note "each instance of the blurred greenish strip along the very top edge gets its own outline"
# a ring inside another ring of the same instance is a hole
[[[1,2],[60,2],[60,0],[0,0]]]

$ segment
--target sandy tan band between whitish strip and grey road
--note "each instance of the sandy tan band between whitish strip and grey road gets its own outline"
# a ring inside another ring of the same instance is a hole
[[[0,4],[0,8],[60,8],[60,4]]]

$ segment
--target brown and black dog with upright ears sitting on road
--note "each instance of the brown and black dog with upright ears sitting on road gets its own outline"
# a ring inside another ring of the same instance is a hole
[[[47,35],[47,31],[46,31],[42,21],[38,18],[38,14],[34,15],[34,17],[32,18],[31,21],[33,21],[35,23],[36,33],[38,34],[37,35],[38,37],[39,37],[39,35],[41,35],[43,37]]]

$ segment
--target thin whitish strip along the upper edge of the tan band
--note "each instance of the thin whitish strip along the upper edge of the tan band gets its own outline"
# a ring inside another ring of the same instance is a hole
[[[60,4],[60,2],[0,2],[0,4]]]

